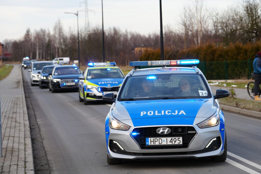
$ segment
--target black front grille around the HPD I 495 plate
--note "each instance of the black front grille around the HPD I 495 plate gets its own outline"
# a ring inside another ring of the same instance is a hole
[[[184,128],[184,126],[180,126]],[[193,139],[193,137],[197,134],[196,130],[192,126],[185,126],[187,128],[187,132],[193,131],[194,133],[182,133],[177,134],[175,130],[179,128],[179,126],[171,126],[168,127],[172,130],[172,133],[168,135],[159,135],[156,133],[156,129],[160,127],[145,127],[145,128],[134,128],[133,132],[139,133],[138,135],[133,136],[134,140],[139,144],[141,149],[180,149],[180,148],[188,148],[189,143]],[[181,146],[146,146],[146,138],[153,138],[153,137],[175,137],[181,136],[183,145]]]

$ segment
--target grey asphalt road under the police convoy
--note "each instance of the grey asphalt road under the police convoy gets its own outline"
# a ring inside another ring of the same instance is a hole
[[[224,112],[226,162],[206,158],[108,165],[104,122],[109,104],[84,105],[78,101],[78,92],[51,93],[31,87],[28,71],[22,71],[51,173],[261,173],[261,120],[230,112]]]

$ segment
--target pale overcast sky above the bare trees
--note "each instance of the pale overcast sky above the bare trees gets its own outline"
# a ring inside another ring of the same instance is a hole
[[[69,27],[77,31],[76,10],[85,8],[84,0],[0,0],[1,27],[0,42],[4,39],[19,39],[26,29],[31,31],[49,28],[52,32],[55,22],[60,19],[64,29]],[[236,0],[205,0],[207,9],[222,11]],[[162,0],[163,26],[177,26],[179,14],[185,5],[193,5],[193,0]],[[90,26],[102,24],[101,0],[88,0]],[[159,32],[159,0],[104,0],[104,28],[118,27],[122,30],[136,31],[142,34]],[[79,12],[79,27],[85,26],[85,12]]]

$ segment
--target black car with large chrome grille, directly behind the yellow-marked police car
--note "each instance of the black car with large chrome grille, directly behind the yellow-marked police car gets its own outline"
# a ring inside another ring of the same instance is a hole
[[[62,65],[56,66],[49,74],[49,91],[52,93],[58,90],[79,89],[79,79],[81,76],[81,70],[77,66]]]

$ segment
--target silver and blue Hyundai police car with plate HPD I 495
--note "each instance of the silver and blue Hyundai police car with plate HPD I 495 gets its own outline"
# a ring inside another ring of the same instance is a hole
[[[198,59],[130,62],[125,77],[105,119],[108,164],[122,159],[211,157],[225,161],[227,140],[224,115],[203,73],[194,66]],[[193,64],[193,67],[165,65]],[[138,69],[162,65],[159,68]]]

